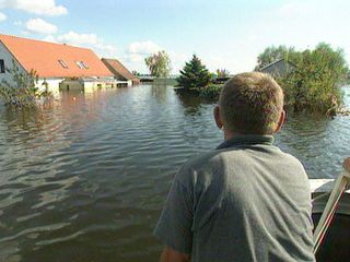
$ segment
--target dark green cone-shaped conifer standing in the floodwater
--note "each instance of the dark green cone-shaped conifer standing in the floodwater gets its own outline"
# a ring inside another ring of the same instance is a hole
[[[211,81],[211,74],[200,59],[194,55],[189,62],[186,62],[177,83],[186,90],[198,90],[207,86]]]

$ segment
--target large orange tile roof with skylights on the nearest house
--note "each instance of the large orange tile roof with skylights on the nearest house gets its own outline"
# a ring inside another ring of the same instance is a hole
[[[113,76],[98,57],[88,48],[1,34],[0,41],[27,72],[33,69],[39,78]],[[59,60],[68,68],[63,68]],[[88,69],[79,68],[77,62],[83,62]]]

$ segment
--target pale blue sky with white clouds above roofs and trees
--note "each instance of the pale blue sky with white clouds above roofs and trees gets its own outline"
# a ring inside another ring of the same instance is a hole
[[[192,53],[238,73],[270,45],[326,41],[350,61],[349,12],[348,0],[0,0],[0,33],[89,47],[139,72],[164,49],[175,74]]]

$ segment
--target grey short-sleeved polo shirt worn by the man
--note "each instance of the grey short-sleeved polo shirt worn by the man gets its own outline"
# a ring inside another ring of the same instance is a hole
[[[269,135],[242,135],[178,171],[154,236],[191,261],[315,261],[307,176]]]

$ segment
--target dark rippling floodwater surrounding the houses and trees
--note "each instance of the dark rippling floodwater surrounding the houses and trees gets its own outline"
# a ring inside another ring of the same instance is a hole
[[[0,106],[0,261],[156,261],[151,233],[176,170],[222,141],[212,108],[171,86]],[[349,141],[350,117],[289,116],[277,136],[312,178],[338,175]]]

